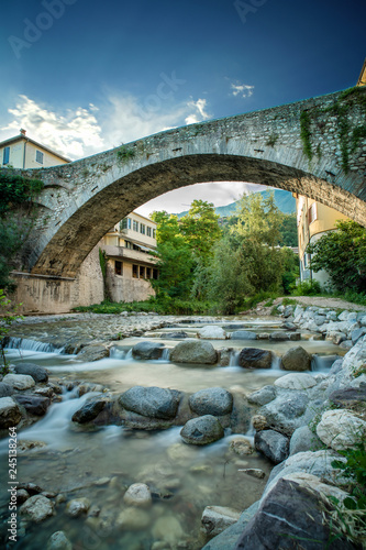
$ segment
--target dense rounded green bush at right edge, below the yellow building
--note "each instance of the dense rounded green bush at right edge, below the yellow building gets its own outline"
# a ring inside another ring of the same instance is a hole
[[[311,268],[325,270],[332,284],[340,292],[366,289],[366,228],[355,221],[336,222],[339,231],[322,235],[309,244]]]

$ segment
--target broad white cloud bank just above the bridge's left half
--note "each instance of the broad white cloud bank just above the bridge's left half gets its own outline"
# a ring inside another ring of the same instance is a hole
[[[24,128],[27,136],[71,160],[210,118],[206,99],[174,105],[158,95],[138,101],[133,96],[110,91],[100,106],[89,103],[87,108],[64,110],[18,96],[15,107],[9,108],[8,113],[11,121],[0,127],[0,141]]]

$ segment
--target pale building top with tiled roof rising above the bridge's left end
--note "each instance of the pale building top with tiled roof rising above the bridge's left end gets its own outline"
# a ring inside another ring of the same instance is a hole
[[[26,131],[21,129],[20,134],[0,142],[1,167],[13,168],[47,168],[69,163],[66,158],[49,147],[26,138]]]

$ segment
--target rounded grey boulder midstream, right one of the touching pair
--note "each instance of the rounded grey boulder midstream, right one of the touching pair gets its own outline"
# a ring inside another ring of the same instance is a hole
[[[189,406],[197,415],[228,415],[233,409],[233,396],[222,387],[200,389],[189,397]]]

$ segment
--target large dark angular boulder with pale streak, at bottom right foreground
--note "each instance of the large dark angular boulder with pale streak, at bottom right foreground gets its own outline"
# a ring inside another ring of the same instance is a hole
[[[308,488],[297,477],[279,480],[262,501],[258,512],[246,525],[235,548],[325,548],[332,535],[329,522],[324,522],[324,509],[329,507],[329,502],[322,501],[314,487],[317,483]],[[333,538],[333,550],[353,548],[345,539]]]

